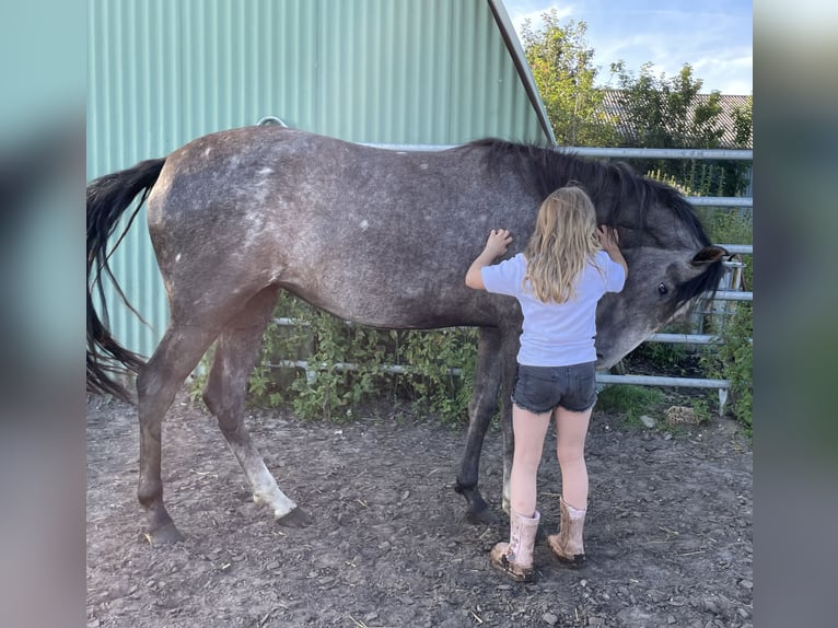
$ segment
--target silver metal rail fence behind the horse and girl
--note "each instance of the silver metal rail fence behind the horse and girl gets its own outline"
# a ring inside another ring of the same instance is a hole
[[[441,151],[447,150],[450,146],[421,146],[421,144],[371,144],[375,148],[384,148],[398,151]],[[630,149],[630,148],[567,148],[580,156],[590,158],[621,158],[621,159],[689,159],[689,160],[736,160],[753,161],[754,151],[752,150],[729,150],[729,149]],[[754,207],[753,197],[687,197],[687,200],[694,206],[718,207],[718,208],[750,208]],[[719,244],[731,254],[737,256],[753,256],[754,247],[750,244],[732,243]],[[737,260],[724,261],[726,272],[722,279],[721,287],[711,302],[711,310],[703,311],[702,315],[724,315],[728,311],[728,302],[753,301],[754,294],[750,291],[742,289],[742,270],[744,264]],[[701,316],[703,318],[703,316]],[[291,318],[277,318],[278,325],[295,325],[296,322]],[[701,334],[700,328],[697,333],[689,334],[653,334],[645,340],[647,342],[670,342],[684,345],[710,345],[721,340],[717,336]],[[753,341],[753,339],[752,339]],[[311,364],[306,360],[280,360],[271,363],[276,368],[298,368],[304,369],[306,376],[311,381],[316,377],[319,365]],[[351,371],[356,369],[352,363],[333,364],[338,370]],[[388,373],[404,373],[406,368],[396,364],[382,364],[381,371]],[[457,369],[452,369],[451,374],[458,375]],[[719,414],[724,412],[724,406],[728,402],[728,391],[731,383],[728,380],[713,380],[702,377],[666,377],[657,375],[631,375],[631,374],[612,374],[597,373],[596,382],[604,384],[629,384],[636,386],[675,386],[691,388],[715,388],[719,393]]]

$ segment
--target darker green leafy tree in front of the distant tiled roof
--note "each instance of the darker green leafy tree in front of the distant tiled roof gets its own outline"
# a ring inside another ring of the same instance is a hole
[[[622,61],[612,63],[622,109],[621,146],[642,148],[714,149],[724,135],[720,93],[699,96],[702,81],[685,63],[676,77],[652,75],[645,63],[635,77]],[[753,102],[753,98],[752,98]],[[735,114],[736,141],[744,146],[752,129],[749,109]],[[633,160],[640,172],[674,179],[697,194],[736,196],[745,185],[748,164],[732,161]]]

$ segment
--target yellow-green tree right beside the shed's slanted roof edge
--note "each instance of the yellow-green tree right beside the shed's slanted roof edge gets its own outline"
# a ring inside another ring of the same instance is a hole
[[[602,107],[602,91],[594,88],[598,70],[585,40],[587,25],[573,21],[559,25],[556,9],[543,13],[542,20],[544,26],[538,31],[526,20],[522,38],[556,141],[563,146],[614,146],[615,120]]]

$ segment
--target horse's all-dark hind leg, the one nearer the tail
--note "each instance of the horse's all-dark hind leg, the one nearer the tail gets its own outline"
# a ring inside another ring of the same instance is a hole
[[[163,417],[214,337],[216,332],[200,327],[170,327],[137,377],[140,422],[137,497],[146,508],[149,540],[152,543],[172,543],[183,538],[163,504],[160,476]]]

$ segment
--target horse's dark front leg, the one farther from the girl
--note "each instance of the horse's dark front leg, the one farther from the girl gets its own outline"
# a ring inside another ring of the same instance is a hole
[[[480,467],[480,451],[486,431],[489,429],[489,422],[498,408],[498,388],[504,373],[501,338],[501,330],[498,328],[480,328],[475,385],[472,391],[472,400],[468,404],[468,433],[454,487],[468,502],[466,519],[473,523],[496,523],[498,521],[498,516],[489,509],[480,495],[477,479]]]

